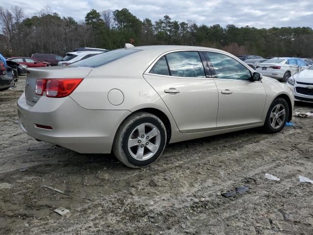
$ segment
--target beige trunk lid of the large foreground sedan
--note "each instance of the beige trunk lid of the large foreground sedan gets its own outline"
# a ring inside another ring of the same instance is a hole
[[[58,79],[58,78],[85,78],[92,68],[87,67],[42,67],[36,69],[27,69],[27,79],[25,84],[26,102],[34,106],[42,97],[35,91],[37,79]]]

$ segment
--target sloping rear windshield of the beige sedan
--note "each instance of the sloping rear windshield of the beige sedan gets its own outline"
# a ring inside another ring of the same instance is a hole
[[[81,67],[89,67],[89,68],[97,68],[106,64],[111,63],[112,61],[118,60],[127,55],[133,54],[135,52],[140,51],[139,49],[130,49],[130,48],[122,48],[111,50],[105,53],[101,53],[95,56],[92,56],[88,59],[78,61],[76,63],[71,64],[70,66],[81,66]]]

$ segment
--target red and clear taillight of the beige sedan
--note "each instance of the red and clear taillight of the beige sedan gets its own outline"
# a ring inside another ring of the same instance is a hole
[[[82,81],[82,78],[37,79],[36,94],[43,95],[45,92],[47,97],[65,97],[71,94]]]

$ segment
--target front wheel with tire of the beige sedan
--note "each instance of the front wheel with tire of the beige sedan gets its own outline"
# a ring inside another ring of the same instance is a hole
[[[268,114],[264,123],[264,128],[268,133],[280,132],[289,115],[289,106],[285,99],[276,98],[268,109]]]

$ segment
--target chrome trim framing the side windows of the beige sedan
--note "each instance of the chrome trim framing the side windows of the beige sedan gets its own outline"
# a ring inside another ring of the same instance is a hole
[[[148,75],[155,75],[155,76],[164,76],[164,77],[176,77],[176,78],[189,78],[189,79],[211,79],[211,80],[228,80],[228,81],[245,81],[245,82],[252,82],[252,81],[248,81],[248,80],[238,80],[238,79],[221,79],[221,78],[212,78],[212,77],[177,77],[177,76],[168,76],[168,75],[160,75],[160,74],[155,74],[155,73],[150,73],[150,70],[154,67],[154,65],[156,64],[156,62],[164,55],[173,53],[173,52],[180,52],[180,51],[204,51],[204,52],[215,52],[215,53],[220,53],[220,54],[224,54],[226,56],[229,56],[230,58],[236,60],[237,62],[239,62],[240,64],[242,64],[244,67],[246,67],[246,69],[248,71],[250,71],[252,74],[253,71],[252,68],[248,65],[246,65],[242,60],[240,60],[239,58],[237,58],[236,56],[232,55],[232,54],[228,54],[227,52],[224,51],[219,51],[219,50],[214,50],[214,49],[177,49],[177,50],[169,50],[166,51],[164,53],[162,53],[161,55],[159,55],[158,57],[156,57],[156,59],[152,62],[152,64],[146,69],[146,71],[144,71],[144,74],[148,74]],[[204,68],[203,68],[204,69]],[[253,82],[261,82],[260,81],[253,81]]]

